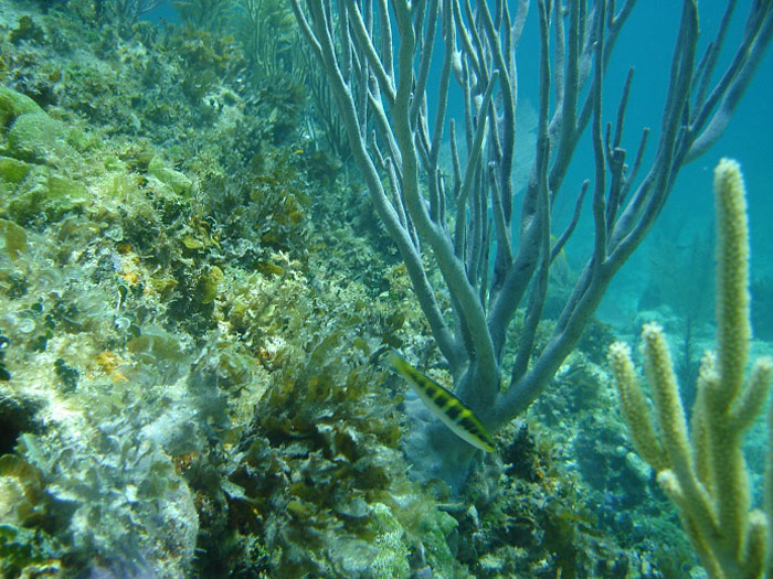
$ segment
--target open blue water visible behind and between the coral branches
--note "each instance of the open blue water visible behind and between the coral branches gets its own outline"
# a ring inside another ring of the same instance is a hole
[[[510,0],[515,13],[513,0]],[[519,99],[536,105],[539,84],[539,31],[536,2],[529,9],[526,26],[520,39],[516,61],[518,67]],[[732,57],[732,49],[740,39],[749,2],[739,2],[731,21],[726,50],[722,52],[714,71],[714,81],[724,72]],[[703,54],[726,10],[724,0],[706,0],[699,2],[701,37],[698,57]],[[659,136],[660,118],[668,86],[670,58],[678,33],[681,3],[671,0],[639,1],[633,9],[628,21],[620,34],[606,71],[604,87],[603,124],[616,117],[618,99],[629,67],[635,68],[631,96],[627,106],[623,147],[627,150],[627,161],[633,163],[644,128],[650,129],[648,144],[642,169],[637,175],[643,179],[648,170]],[[178,21],[174,8],[165,3],[146,18],[160,22]],[[440,35],[440,34],[438,34]],[[440,74],[442,44],[433,62],[434,74]],[[437,83],[430,83],[430,107],[436,100]],[[756,277],[773,276],[773,244],[771,222],[773,222],[773,55],[763,58],[756,75],[752,79],[734,117],[724,135],[700,159],[684,167],[676,180],[673,193],[654,230],[632,259],[613,281],[599,310],[601,319],[618,328],[626,328],[633,322],[634,311],[639,298],[648,285],[648,277],[658,276],[653,268],[652,251],[658,251],[664,244],[674,244],[676,253],[693,250],[696,240],[712,243],[713,200],[712,168],[722,157],[731,157],[741,163],[746,181],[749,217],[752,247],[752,271]],[[464,104],[459,90],[452,87],[449,115],[459,119]],[[432,110],[431,110],[432,114]],[[447,125],[446,125],[447,138]],[[553,207],[554,232],[560,233],[574,206],[576,192],[585,179],[593,178],[593,151],[587,130],[572,159],[562,190]],[[518,171],[518,168],[516,168]],[[516,199],[516,207],[519,199]],[[517,224],[517,221],[516,221]],[[517,225],[513,228],[517,229]],[[583,219],[573,239],[566,246],[566,257],[575,272],[587,259],[592,247],[592,223],[590,202],[585,203]],[[653,239],[657,239],[654,246]],[[697,266],[698,267],[698,266]],[[676,276],[671,283],[690,283],[695,272],[685,272],[684,278]],[[695,282],[695,281],[693,281]],[[773,297],[772,297],[773,298]],[[771,329],[773,331],[773,329]]]

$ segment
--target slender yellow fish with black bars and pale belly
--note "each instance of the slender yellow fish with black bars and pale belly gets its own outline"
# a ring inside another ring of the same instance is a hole
[[[443,420],[452,432],[480,450],[494,452],[491,435],[466,404],[435,380],[419,372],[396,352],[389,352],[384,356],[384,362],[405,378],[427,408]]]

